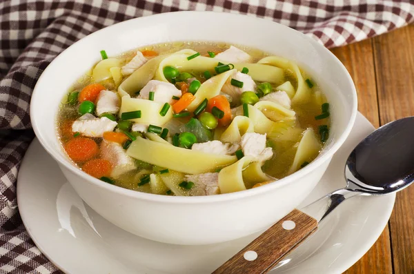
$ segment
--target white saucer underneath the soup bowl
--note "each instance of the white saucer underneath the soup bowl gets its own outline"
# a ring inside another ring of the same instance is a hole
[[[346,158],[373,129],[361,114],[357,116],[350,137],[302,205],[345,186]],[[127,233],[82,202],[37,139],[21,165],[17,200],[36,245],[68,274],[211,273],[257,236],[209,246],[175,246]],[[344,272],[380,236],[394,201],[395,195],[388,195],[345,202],[270,273]]]

